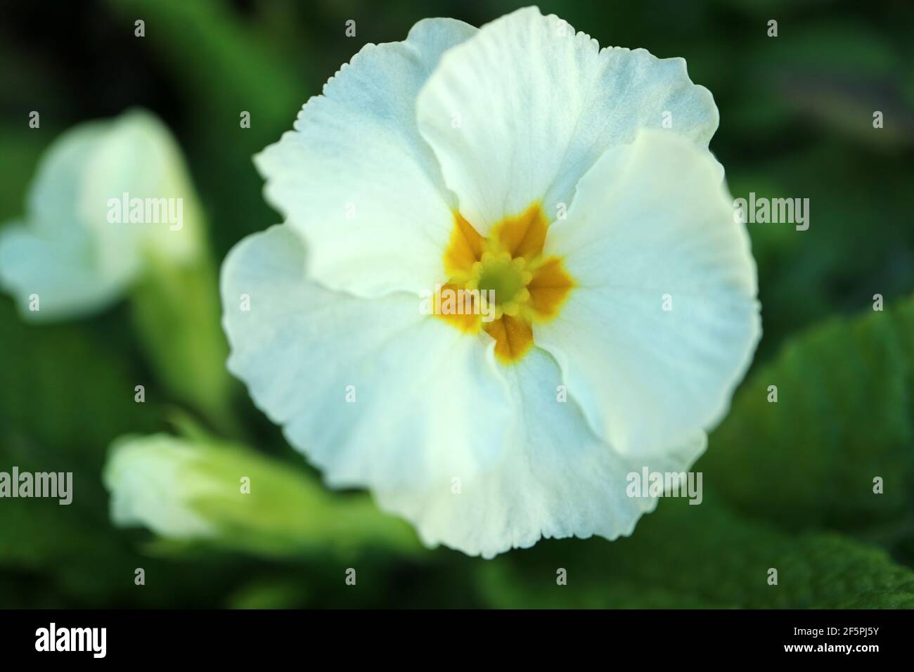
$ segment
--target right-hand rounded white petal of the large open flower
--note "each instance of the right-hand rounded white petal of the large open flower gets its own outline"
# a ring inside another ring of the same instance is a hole
[[[749,236],[707,152],[663,131],[607,152],[546,253],[578,286],[534,339],[601,437],[643,454],[719,421],[760,318]]]

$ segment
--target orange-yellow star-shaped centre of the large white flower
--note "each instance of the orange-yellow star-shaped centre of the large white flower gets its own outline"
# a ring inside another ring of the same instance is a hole
[[[558,315],[574,286],[561,259],[543,257],[547,229],[538,202],[497,222],[488,238],[454,213],[451,240],[444,251],[449,278],[436,296],[436,305],[441,306],[437,315],[468,333],[484,329],[495,340],[495,357],[505,364],[529,352],[534,323]],[[471,314],[467,306],[473,307]]]

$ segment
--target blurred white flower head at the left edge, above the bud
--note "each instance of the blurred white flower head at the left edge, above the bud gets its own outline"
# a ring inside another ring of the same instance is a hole
[[[0,228],[0,285],[30,320],[97,312],[149,255],[196,257],[198,209],[181,152],[152,114],[80,123],[42,157],[25,221]]]

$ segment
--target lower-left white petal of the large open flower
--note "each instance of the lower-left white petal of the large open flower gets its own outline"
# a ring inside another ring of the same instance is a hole
[[[420,315],[411,294],[357,298],[304,269],[288,226],[228,254],[228,368],[330,485],[448,487],[498,460],[508,397],[486,336]]]

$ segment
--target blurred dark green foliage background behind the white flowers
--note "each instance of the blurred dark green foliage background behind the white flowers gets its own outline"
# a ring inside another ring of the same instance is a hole
[[[479,26],[518,6],[2,2],[0,221],[22,215],[37,159],[58,133],[140,105],[182,144],[221,261],[279,221],[250,156],[290,129],[363,44],[403,39],[426,16]],[[0,296],[0,470],[72,471],[78,495],[69,507],[0,501],[0,607],[914,606],[914,5],[540,7],[602,46],[684,57],[717,101],[711,149],[734,196],[810,199],[807,231],[749,224],[764,337],[696,465],[704,503],[662,500],[631,539],[612,543],[544,540],[491,561],[421,549],[363,496],[321,498],[318,476],[237,386],[240,429],[226,438],[314,487],[316,498],[302,493],[313,508],[301,517],[320,517],[320,528],[294,530],[291,546],[260,543],[257,521],[233,521],[234,542],[115,528],[101,481],[109,445],[171,431],[178,404],[156,383],[125,304],[30,326]],[[133,36],[137,18],[146,37]],[[348,19],[356,37],[345,37]],[[778,37],[767,36],[770,19]],[[40,129],[28,128],[32,110]],[[239,128],[242,110],[250,129]],[[884,128],[873,128],[874,111]],[[873,310],[876,293],[885,311]],[[133,401],[139,381],[143,404]],[[766,401],[772,384],[777,404]],[[376,522],[397,531],[373,533]],[[144,586],[133,582],[139,567]],[[356,587],[345,585],[349,567]],[[772,567],[777,586],[767,582]],[[557,585],[558,568],[568,585]]]

